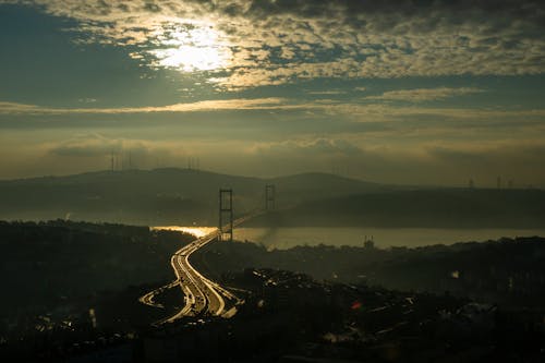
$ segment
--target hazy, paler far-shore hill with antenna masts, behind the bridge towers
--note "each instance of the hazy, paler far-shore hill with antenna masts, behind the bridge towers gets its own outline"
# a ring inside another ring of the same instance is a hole
[[[268,183],[279,207],[389,187],[325,173],[268,180],[175,168],[98,171],[0,181],[0,218],[216,225],[220,187],[233,189],[235,214],[243,214],[263,207]]]

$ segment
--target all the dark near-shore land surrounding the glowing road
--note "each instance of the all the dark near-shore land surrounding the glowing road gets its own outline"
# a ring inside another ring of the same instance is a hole
[[[191,238],[119,225],[0,225],[2,362],[542,362],[545,240],[379,250],[211,243],[192,263],[231,319],[137,299]]]

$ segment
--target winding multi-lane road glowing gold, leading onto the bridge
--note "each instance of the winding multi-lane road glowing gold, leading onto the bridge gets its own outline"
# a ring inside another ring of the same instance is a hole
[[[234,220],[233,228],[259,214],[261,211],[253,213]],[[177,314],[164,318],[155,323],[155,325],[172,323],[183,316],[208,315],[231,317],[235,314],[237,306],[244,302],[227,289],[201,275],[190,264],[191,254],[216,240],[218,235],[219,229],[216,229],[214,232],[201,237],[178,250],[170,258],[170,265],[174,270],[175,280],[167,286],[150,291],[138,299],[146,305],[162,307],[161,304],[154,301],[156,295],[175,286],[179,286],[182,289],[184,294],[183,307]]]

